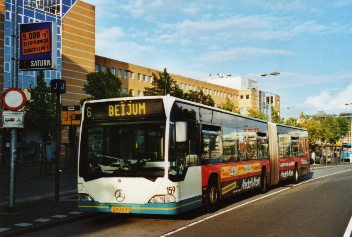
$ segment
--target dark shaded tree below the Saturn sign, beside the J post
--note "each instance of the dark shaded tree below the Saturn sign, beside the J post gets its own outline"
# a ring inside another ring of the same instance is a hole
[[[37,86],[28,90],[31,100],[26,100],[25,127],[39,134],[39,139],[44,143],[44,159],[46,160],[46,142],[56,136],[56,95],[51,94],[51,89],[46,85],[44,71],[37,74]]]

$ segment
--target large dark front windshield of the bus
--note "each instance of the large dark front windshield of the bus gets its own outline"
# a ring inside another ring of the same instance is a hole
[[[165,121],[99,122],[82,127],[80,177],[164,177]]]

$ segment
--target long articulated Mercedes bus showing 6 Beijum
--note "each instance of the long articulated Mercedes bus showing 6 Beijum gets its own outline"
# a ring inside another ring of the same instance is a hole
[[[178,214],[310,172],[308,132],[171,96],[87,101],[78,210]]]

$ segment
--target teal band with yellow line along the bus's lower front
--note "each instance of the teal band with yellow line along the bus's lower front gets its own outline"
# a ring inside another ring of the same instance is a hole
[[[181,200],[177,203],[116,204],[97,201],[78,201],[78,211],[110,212],[111,206],[131,207],[131,213],[138,214],[177,214],[202,205],[202,196]]]

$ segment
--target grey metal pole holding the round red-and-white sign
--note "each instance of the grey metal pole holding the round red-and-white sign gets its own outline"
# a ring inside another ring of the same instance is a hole
[[[14,1],[13,19],[13,58],[12,58],[12,87],[18,87],[18,0]],[[17,129],[11,129],[11,160],[10,160],[10,187],[8,194],[7,213],[15,212],[15,164],[17,159]]]

